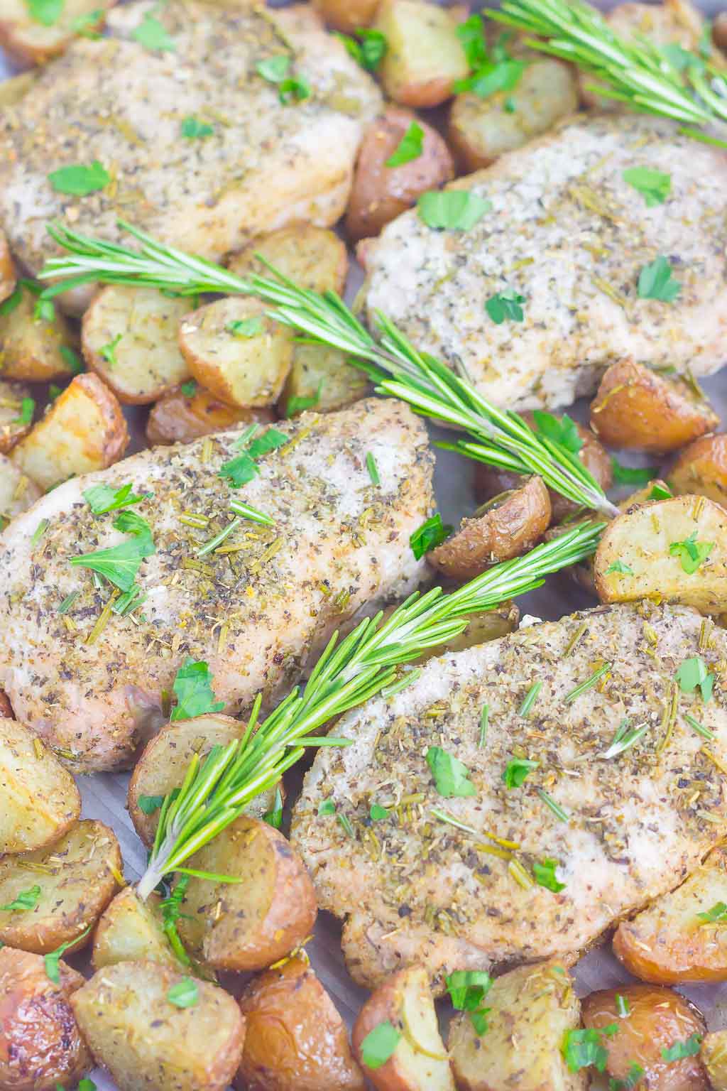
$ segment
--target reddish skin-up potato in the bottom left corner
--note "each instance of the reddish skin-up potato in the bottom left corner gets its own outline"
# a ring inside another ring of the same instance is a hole
[[[92,1067],[69,1004],[83,978],[62,960],[58,975],[50,980],[39,955],[0,949],[2,1091],[70,1089]]]

